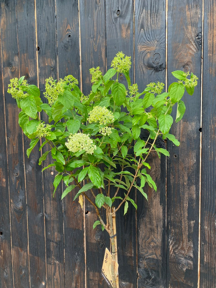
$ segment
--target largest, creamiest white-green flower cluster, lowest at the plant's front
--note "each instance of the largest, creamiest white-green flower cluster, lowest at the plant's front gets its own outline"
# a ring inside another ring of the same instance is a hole
[[[65,143],[66,147],[71,152],[86,151],[87,154],[93,154],[96,149],[96,145],[93,144],[93,140],[89,135],[84,133],[76,133],[69,135],[68,141]]]

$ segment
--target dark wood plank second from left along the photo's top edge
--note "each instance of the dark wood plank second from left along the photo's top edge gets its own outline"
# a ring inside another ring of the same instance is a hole
[[[20,58],[20,76],[27,76],[28,84],[37,85],[37,59],[35,35],[35,3],[17,1],[18,48]],[[30,140],[24,135],[24,164],[26,176],[26,203],[29,236],[29,269],[31,287],[46,284],[44,209],[42,174],[38,166],[39,145],[29,158],[26,150]],[[27,227],[26,227],[27,229]]]

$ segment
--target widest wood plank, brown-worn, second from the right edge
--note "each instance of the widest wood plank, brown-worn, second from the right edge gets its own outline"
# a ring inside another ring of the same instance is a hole
[[[178,16],[177,16],[178,15]],[[168,84],[172,71],[192,71],[201,79],[202,1],[168,1]],[[197,287],[200,164],[200,82],[185,93],[186,112],[171,133],[167,162],[167,287]],[[175,110],[176,111],[176,110]],[[173,111],[173,115],[175,115]]]

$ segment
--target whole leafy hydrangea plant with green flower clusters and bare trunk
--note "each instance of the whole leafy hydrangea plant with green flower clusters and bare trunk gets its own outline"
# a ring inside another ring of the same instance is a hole
[[[193,94],[198,79],[193,73],[175,71],[172,74],[178,81],[173,82],[167,92],[163,92],[164,84],[160,82],[149,83],[144,91],[138,92],[137,84],[130,82],[130,66],[130,57],[119,52],[105,75],[100,67],[90,69],[92,90],[87,96],[72,75],[59,81],[52,77],[46,79],[44,96],[48,103],[41,101],[40,90],[28,85],[25,76],[12,79],[8,88],[21,109],[19,125],[31,139],[27,155],[42,138],[39,149],[46,149],[39,164],[51,154],[53,161],[43,170],[54,167],[58,172],[53,183],[54,193],[61,181],[66,185],[62,198],[78,187],[74,201],[84,196],[98,215],[93,228],[101,225],[102,230],[109,233],[113,287],[118,287],[118,283],[114,272],[117,247],[112,216],[122,205],[124,214],[128,204],[137,209],[133,200],[135,189],[146,200],[145,185],[157,190],[150,175],[148,156],[151,151],[156,151],[159,157],[169,156],[166,149],[156,146],[158,137],[179,145],[169,133],[173,124],[171,112],[176,104],[175,122],[181,120],[185,113],[181,98],[185,89]],[[119,81],[119,73],[124,74],[127,87]],[[41,111],[48,115],[50,124],[40,120]],[[148,131],[147,140],[140,138],[142,129]],[[112,206],[116,206],[115,211]],[[102,218],[101,209],[106,210],[103,213],[106,219]]]

